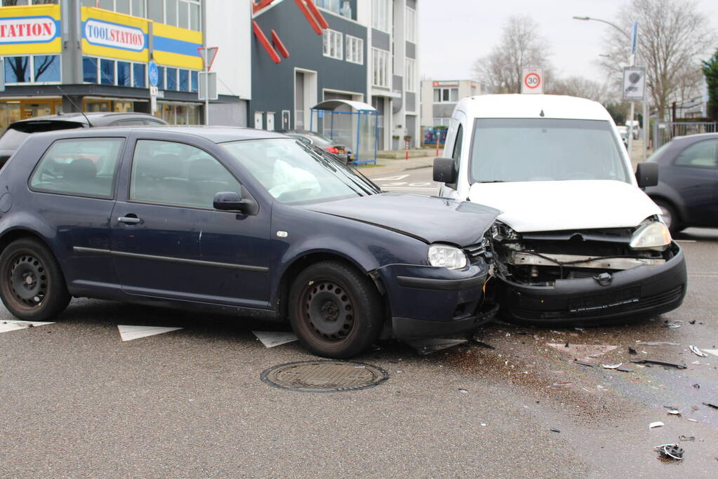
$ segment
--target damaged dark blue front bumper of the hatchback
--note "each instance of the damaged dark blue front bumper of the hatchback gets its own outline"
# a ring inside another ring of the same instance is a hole
[[[470,331],[495,316],[497,308],[482,304],[489,275],[485,262],[475,262],[462,270],[386,265],[376,272],[386,289],[396,338]]]

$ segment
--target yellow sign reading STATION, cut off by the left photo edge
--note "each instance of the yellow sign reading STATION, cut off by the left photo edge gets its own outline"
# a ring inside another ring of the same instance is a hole
[[[0,8],[0,47],[4,55],[60,53],[60,5]]]

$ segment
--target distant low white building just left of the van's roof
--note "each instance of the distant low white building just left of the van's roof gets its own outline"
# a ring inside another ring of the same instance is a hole
[[[473,80],[421,80],[421,126],[449,126],[454,107],[462,98],[484,95]]]

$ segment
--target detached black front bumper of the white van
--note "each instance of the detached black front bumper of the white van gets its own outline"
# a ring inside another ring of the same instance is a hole
[[[661,265],[612,272],[607,278],[556,280],[550,286],[501,278],[501,310],[508,321],[571,323],[640,319],[678,308],[686,294],[686,260],[671,244],[673,257]]]

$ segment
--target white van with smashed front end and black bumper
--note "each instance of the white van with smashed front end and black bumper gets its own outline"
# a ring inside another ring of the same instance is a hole
[[[521,323],[607,323],[677,308],[683,252],[642,191],[599,103],[554,95],[481,95],[454,109],[441,195],[499,209],[486,247],[496,300]]]

